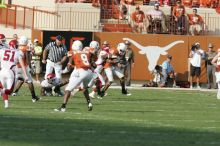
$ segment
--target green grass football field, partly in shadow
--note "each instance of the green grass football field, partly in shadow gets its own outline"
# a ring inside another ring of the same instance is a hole
[[[37,88],[39,93],[39,88]],[[0,106],[0,146],[220,146],[220,101],[199,91],[111,89],[87,111],[82,93],[32,103],[24,86]]]

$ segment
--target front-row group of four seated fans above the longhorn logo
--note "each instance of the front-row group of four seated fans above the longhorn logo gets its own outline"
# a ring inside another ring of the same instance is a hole
[[[131,14],[132,27],[134,32],[142,33],[142,30],[148,33],[173,33],[173,34],[191,34],[200,35],[204,31],[203,18],[193,8],[192,13],[186,14],[185,7],[180,1],[172,7],[171,15],[166,16],[159,9],[158,3],[154,4],[153,10],[144,12],[139,6],[136,6],[135,12]]]

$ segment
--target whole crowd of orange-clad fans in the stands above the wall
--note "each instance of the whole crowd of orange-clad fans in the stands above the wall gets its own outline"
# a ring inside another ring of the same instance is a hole
[[[100,7],[108,5],[107,1],[100,0],[56,0],[56,3],[65,2],[91,2],[93,6]],[[144,0],[138,3],[135,0],[115,0],[112,1],[118,8],[118,18],[121,20],[131,20],[130,24],[135,33],[172,33],[172,34],[191,34],[200,35],[205,33],[205,22],[199,15],[197,8],[207,7],[216,8],[218,1],[216,0]],[[154,6],[153,10],[142,11],[140,5]],[[111,4],[112,5],[112,4]],[[128,13],[129,6],[136,5],[136,9],[131,14]],[[166,15],[161,6],[171,6],[170,15]],[[186,13],[185,7],[191,7],[192,13]],[[108,7],[103,7],[106,12]],[[113,11],[113,10],[112,10]],[[105,13],[105,11],[103,11]]]

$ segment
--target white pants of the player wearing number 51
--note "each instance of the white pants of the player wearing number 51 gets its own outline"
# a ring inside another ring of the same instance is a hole
[[[15,72],[10,69],[2,68],[0,71],[0,82],[3,88],[13,91],[15,85]]]

